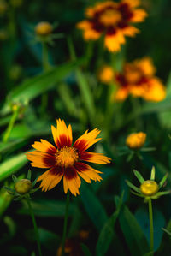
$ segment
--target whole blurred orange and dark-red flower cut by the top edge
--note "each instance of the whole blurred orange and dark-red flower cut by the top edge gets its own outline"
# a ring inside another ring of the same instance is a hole
[[[85,40],[97,40],[104,34],[104,45],[109,51],[120,51],[125,36],[133,37],[139,29],[133,23],[142,22],[146,17],[139,9],[139,0],[122,0],[120,3],[106,1],[85,10],[86,20],[77,27],[83,30]]]

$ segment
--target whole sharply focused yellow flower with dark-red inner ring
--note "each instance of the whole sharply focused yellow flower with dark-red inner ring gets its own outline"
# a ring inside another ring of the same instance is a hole
[[[80,176],[89,183],[91,180],[102,180],[99,176],[101,172],[84,162],[109,164],[110,158],[101,153],[86,152],[90,146],[101,140],[97,138],[100,133],[97,128],[91,132],[86,130],[73,144],[71,125],[67,127],[61,119],[58,119],[56,124],[56,128],[51,127],[56,146],[46,140],[36,141],[32,145],[36,151],[27,153],[27,158],[32,161],[32,166],[49,169],[38,177],[38,182],[42,181],[40,185],[42,190],[54,188],[63,177],[64,192],[67,193],[69,189],[76,196],[79,194]]]

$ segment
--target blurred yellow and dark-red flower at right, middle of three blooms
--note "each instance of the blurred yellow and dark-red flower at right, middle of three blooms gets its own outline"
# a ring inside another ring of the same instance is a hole
[[[147,101],[162,101],[166,97],[166,89],[162,81],[155,76],[156,68],[150,57],[126,63],[122,73],[115,74],[118,89],[113,99],[122,101],[132,94]]]

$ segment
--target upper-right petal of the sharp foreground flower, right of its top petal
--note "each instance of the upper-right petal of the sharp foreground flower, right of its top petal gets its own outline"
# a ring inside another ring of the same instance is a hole
[[[98,134],[100,134],[100,131],[97,128],[93,129],[91,132],[88,132],[88,130],[86,130],[85,134],[80,136],[80,138],[74,142],[73,147],[78,149],[79,152],[85,151],[87,148],[89,148],[93,144],[97,143],[97,141],[102,139],[97,138]]]

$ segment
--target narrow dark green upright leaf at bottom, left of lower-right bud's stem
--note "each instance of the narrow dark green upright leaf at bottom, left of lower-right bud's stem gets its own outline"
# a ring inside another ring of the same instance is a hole
[[[120,202],[119,202],[115,212],[112,214],[111,217],[109,217],[108,221],[104,224],[103,229],[100,232],[100,235],[99,235],[98,241],[97,241],[97,247],[96,247],[96,255],[97,256],[106,255],[106,253],[109,249],[109,245],[110,245],[112,239],[114,238],[115,222],[120,213],[122,198],[123,198],[123,195],[121,196]]]

